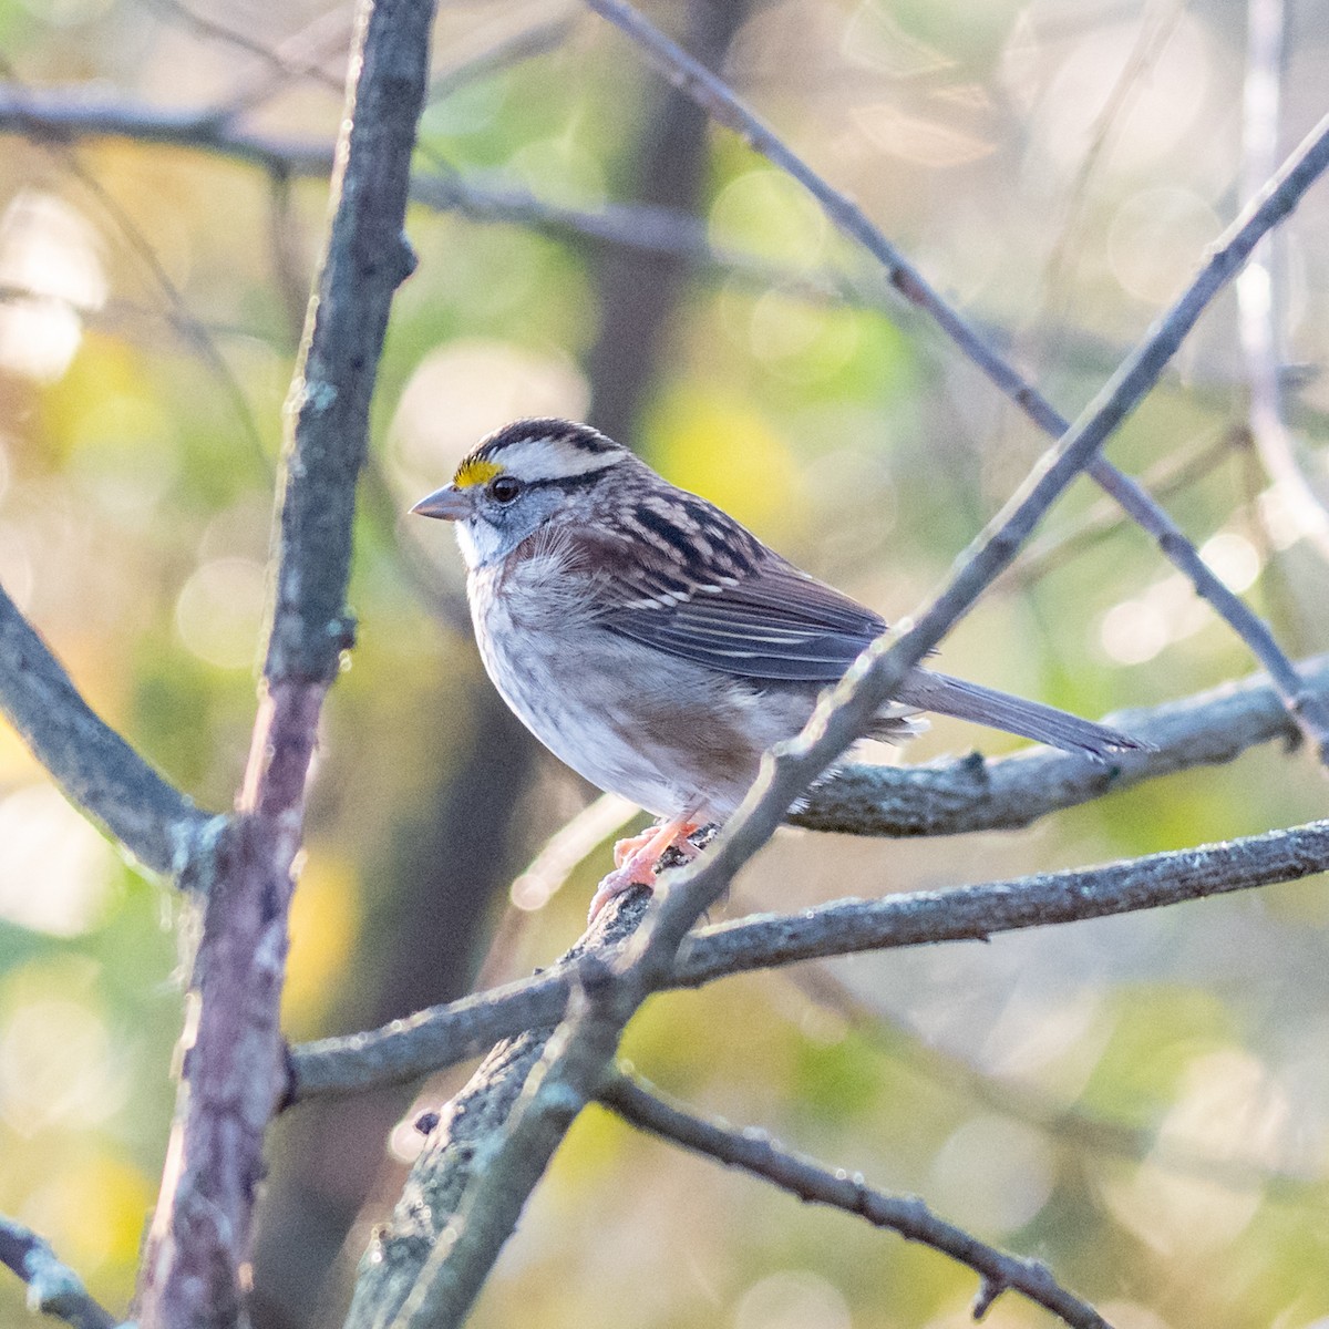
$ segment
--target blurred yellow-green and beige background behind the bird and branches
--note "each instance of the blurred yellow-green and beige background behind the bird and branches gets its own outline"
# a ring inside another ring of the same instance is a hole
[[[1069,415],[1243,197],[1248,16],[1231,0],[646,9]],[[249,743],[351,21],[303,0],[0,0],[0,582],[203,807],[230,804]],[[1280,155],[1329,86],[1329,7],[1288,23]],[[557,893],[544,870],[509,890],[594,791],[485,682],[449,533],[401,517],[481,433],[589,419],[888,618],[1045,444],[796,185],[579,5],[443,0],[433,62],[420,266],[361,492],[360,638],[326,711],[295,900],[292,1039],[456,997],[481,966],[501,981],[549,962],[609,865],[601,843]],[[138,128],[52,137],[60,108]],[[1272,284],[1281,405],[1321,490],[1326,227],[1321,185],[1278,233]],[[1329,647],[1325,542],[1252,443],[1251,372],[1228,294],[1110,452],[1304,657]],[[944,659],[1091,716],[1252,670],[1087,481]],[[938,722],[905,759],[975,746],[1015,740]],[[1265,748],[1019,833],[785,832],[728,912],[1217,840],[1320,816],[1324,795],[1312,758]],[[173,1103],[175,912],[0,730],[0,1211],[116,1308]],[[1312,880],[659,998],[627,1051],[698,1108],[1039,1256],[1124,1329],[1322,1329],[1326,940]],[[280,1120],[260,1329],[336,1322],[417,1148],[413,1111],[464,1073]],[[938,1256],[590,1111],[473,1322],[944,1329],[969,1322],[974,1290]],[[23,1316],[0,1281],[0,1322]],[[1015,1297],[987,1320],[1045,1321]]]

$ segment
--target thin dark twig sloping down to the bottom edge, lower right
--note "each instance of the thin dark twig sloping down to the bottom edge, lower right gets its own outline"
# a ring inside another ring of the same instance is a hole
[[[619,1071],[601,1087],[599,1102],[625,1122],[671,1144],[740,1168],[809,1204],[827,1204],[867,1219],[873,1227],[897,1232],[973,1269],[982,1278],[990,1305],[1002,1292],[1018,1292],[1051,1310],[1075,1329],[1110,1329],[1107,1321],[1067,1292],[1038,1260],[1009,1255],[979,1241],[964,1228],[938,1219],[917,1196],[888,1195],[844,1170],[784,1148],[766,1131],[736,1130],[690,1112],[649,1087],[630,1071]]]

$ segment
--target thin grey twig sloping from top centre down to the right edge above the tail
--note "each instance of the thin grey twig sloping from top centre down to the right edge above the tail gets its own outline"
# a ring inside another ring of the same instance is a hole
[[[816,174],[762,124],[722,80],[694,61],[622,0],[586,0],[586,3],[631,37],[667,78],[692,96],[715,120],[742,134],[750,146],[799,181],[821,203],[831,221],[852,239],[861,243],[884,266],[890,284],[905,299],[928,312],[956,346],[1041,429],[1053,437],[1061,437],[1067,432],[1067,420],[998,356],[974,328],[928,284],[922,274],[869,221],[863,209]],[[1329,117],[1312,130],[1298,152],[1289,159],[1289,165],[1297,159],[1302,165],[1313,162],[1316,165],[1312,165],[1310,170],[1313,175],[1317,175],[1324,169],[1321,158],[1326,150],[1326,138],[1329,138]],[[1271,181],[1271,187],[1277,186],[1277,179]],[[1281,221],[1282,215],[1280,211],[1278,215],[1271,217],[1268,226],[1261,227],[1260,234]],[[1249,249],[1249,246],[1243,247],[1240,256],[1236,258],[1236,266],[1245,260]],[[1139,526],[1154,537],[1164,556],[1241,637],[1256,659],[1269,671],[1275,687],[1313,744],[1320,762],[1329,766],[1329,706],[1314,698],[1308,698],[1300,690],[1296,671],[1278,647],[1268,625],[1205,566],[1204,560],[1200,558],[1195,545],[1185,538],[1180,526],[1135,480],[1123,474],[1102,456],[1090,457],[1083,469],[1126,509]]]

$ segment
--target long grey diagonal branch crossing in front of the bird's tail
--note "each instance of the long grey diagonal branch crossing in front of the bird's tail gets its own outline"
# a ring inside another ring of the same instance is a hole
[[[416,1243],[413,1252],[403,1253],[403,1264],[409,1267],[413,1260],[419,1275],[393,1314],[393,1325],[444,1329],[461,1324],[563,1134],[599,1088],[623,1029],[650,993],[670,981],[698,917],[720,898],[734,874],[771,837],[811,783],[868,730],[908,671],[1010,565],[1039,518],[1150,391],[1251,247],[1294,206],[1326,163],[1329,128],[1293,155],[1269,197],[1233,227],[1191,287],[1034,470],[914,626],[902,634],[888,633],[868,647],[817,704],[803,734],[780,744],[763,763],[738,812],[702,859],[657,882],[651,909],[614,958],[613,968],[594,966],[587,973],[585,962],[579,966],[582,997],[569,1006],[541,1062],[524,1078],[513,1118],[486,1139],[484,1175],[466,1185],[459,1221],[440,1233],[432,1248],[428,1241]],[[371,1300],[365,1289],[373,1280],[371,1259],[361,1267],[358,1289],[361,1305]]]

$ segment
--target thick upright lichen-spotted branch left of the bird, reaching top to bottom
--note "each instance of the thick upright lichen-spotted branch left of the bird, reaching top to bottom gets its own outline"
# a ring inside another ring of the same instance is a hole
[[[284,1073],[278,1007],[319,711],[352,627],[355,485],[424,100],[429,0],[363,0],[332,177],[335,214],[287,411],[276,601],[237,815],[195,856],[207,905],[186,1059],[142,1271],[141,1322],[239,1322],[263,1134]]]

